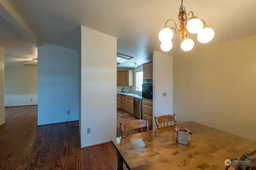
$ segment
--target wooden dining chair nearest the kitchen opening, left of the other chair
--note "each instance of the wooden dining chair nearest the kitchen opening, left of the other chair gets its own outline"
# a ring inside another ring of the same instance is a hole
[[[140,128],[142,132],[143,127],[146,127],[146,130],[148,131],[148,118],[146,119],[146,121],[138,119],[134,121],[128,121],[126,123],[120,123],[122,136],[126,136],[125,135],[126,130],[128,135],[129,135],[129,130],[132,130],[132,134],[133,134],[134,129],[136,129],[136,132],[138,133],[138,128]]]

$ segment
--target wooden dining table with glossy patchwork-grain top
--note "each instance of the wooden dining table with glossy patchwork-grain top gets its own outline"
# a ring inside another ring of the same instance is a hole
[[[188,145],[176,143],[176,126],[193,133]],[[114,138],[118,170],[123,161],[130,170],[224,170],[226,159],[256,148],[256,141],[199,123],[176,126]]]

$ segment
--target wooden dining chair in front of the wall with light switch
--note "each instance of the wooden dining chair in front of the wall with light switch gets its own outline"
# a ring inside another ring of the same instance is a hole
[[[157,128],[172,126],[172,122],[175,122],[175,125],[176,125],[177,124],[176,113],[174,113],[173,115],[160,116],[158,118],[155,117],[155,121],[156,121]]]

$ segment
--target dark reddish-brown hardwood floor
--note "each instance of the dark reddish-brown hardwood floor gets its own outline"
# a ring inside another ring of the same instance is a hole
[[[117,124],[135,119],[118,116]],[[78,130],[78,122],[37,127],[37,106],[6,108],[0,170],[116,170],[112,143],[80,150]]]

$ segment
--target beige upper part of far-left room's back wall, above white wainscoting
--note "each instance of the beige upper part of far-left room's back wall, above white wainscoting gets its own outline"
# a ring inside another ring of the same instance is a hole
[[[5,95],[37,94],[37,67],[6,66]]]

